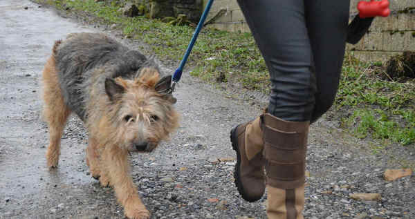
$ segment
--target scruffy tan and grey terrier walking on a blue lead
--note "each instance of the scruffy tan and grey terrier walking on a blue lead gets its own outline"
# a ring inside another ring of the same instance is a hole
[[[171,75],[154,61],[101,34],[56,41],[43,71],[47,164],[57,167],[60,138],[71,112],[89,131],[86,164],[103,187],[113,187],[127,218],[149,218],[129,175],[128,154],[149,152],[178,127]]]

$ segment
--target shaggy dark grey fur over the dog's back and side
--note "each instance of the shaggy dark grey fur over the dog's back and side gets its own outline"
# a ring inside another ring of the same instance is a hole
[[[58,44],[58,42],[57,42]],[[114,39],[98,33],[74,33],[57,45],[55,61],[65,104],[82,120],[93,86],[105,93],[106,78],[133,78],[142,67],[158,69],[137,50],[130,50]],[[160,73],[160,70],[158,70]],[[160,77],[163,77],[160,73]]]

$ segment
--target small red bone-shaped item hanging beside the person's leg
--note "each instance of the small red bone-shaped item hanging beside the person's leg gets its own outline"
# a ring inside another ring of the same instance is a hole
[[[360,1],[358,3],[358,10],[360,18],[377,16],[388,17],[391,13],[391,10],[389,10],[389,1],[387,0]]]

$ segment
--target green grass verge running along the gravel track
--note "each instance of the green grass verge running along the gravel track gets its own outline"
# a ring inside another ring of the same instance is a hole
[[[116,3],[93,0],[46,2],[62,10],[89,12],[107,24],[115,23],[124,35],[140,39],[161,59],[177,63],[194,32],[190,26],[173,26],[158,19],[123,17]],[[250,33],[204,28],[189,61],[188,65],[194,66],[190,74],[206,82],[239,83],[243,88],[270,92],[264,59]],[[382,80],[379,75],[386,73],[376,68],[379,66],[382,63],[365,63],[346,55],[331,113],[358,137],[414,144],[415,83]]]

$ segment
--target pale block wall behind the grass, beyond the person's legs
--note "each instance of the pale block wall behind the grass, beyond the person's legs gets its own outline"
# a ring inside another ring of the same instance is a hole
[[[358,1],[351,0],[351,19],[358,13],[356,9]],[[353,50],[356,57],[369,61],[384,61],[387,57],[404,50],[415,51],[415,0],[389,0],[389,2],[391,15],[387,18],[376,18],[369,33],[358,44],[347,44],[347,50]],[[219,12],[223,15],[212,23],[214,28],[250,31],[236,0],[215,0],[208,21]]]

